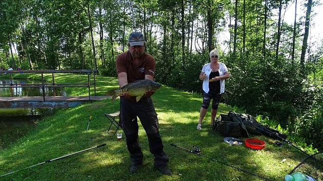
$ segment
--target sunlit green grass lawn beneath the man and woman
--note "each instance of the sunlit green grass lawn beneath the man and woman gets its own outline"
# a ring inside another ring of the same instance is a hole
[[[27,74],[17,76],[40,77]],[[50,75],[45,77],[51,80]],[[97,76],[96,79],[98,95],[118,87],[115,78]],[[58,74],[55,80],[86,82],[87,76]],[[86,88],[69,88],[67,91],[70,95],[87,95]],[[0,180],[261,180],[206,157],[184,152],[170,143],[189,149],[193,145],[199,146],[201,154],[273,180],[282,180],[305,158],[304,154],[289,145],[278,147],[274,144],[275,140],[264,136],[251,137],[266,142],[263,150],[226,144],[224,137],[209,127],[210,110],[202,130],[196,130],[201,106],[201,97],[197,94],[163,86],[156,90],[152,99],[158,114],[164,151],[170,158],[171,176],[162,175],[153,169],[153,155],[149,152],[148,139],[140,123],[139,143],[144,153],[144,165],[137,173],[130,174],[125,137],[121,142],[116,140],[116,135],[112,137],[113,132],[107,132],[109,122],[104,116],[105,113],[118,111],[117,99],[114,103],[103,100],[56,110],[55,114],[40,121],[23,138],[0,150],[0,175],[102,143],[107,143],[107,146],[18,171],[0,177]],[[227,114],[231,109],[230,106],[220,104],[218,114]],[[93,119],[86,132],[90,116]]]

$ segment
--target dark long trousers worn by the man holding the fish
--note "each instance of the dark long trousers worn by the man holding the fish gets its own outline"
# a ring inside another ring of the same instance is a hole
[[[158,131],[157,114],[150,97],[133,102],[120,97],[120,120],[126,134],[127,147],[133,164],[143,162],[143,152],[139,146],[137,117],[142,123],[149,142],[150,152],[155,156],[155,167],[165,167],[168,156],[163,151],[164,146]]]

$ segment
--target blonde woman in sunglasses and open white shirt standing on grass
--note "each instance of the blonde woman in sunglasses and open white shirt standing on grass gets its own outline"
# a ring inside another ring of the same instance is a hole
[[[203,80],[203,103],[199,111],[197,130],[202,128],[202,121],[212,101],[211,126],[216,116],[217,107],[221,100],[221,94],[225,92],[225,79],[230,77],[227,66],[219,62],[219,51],[214,49],[210,52],[210,63],[203,66],[199,79]]]

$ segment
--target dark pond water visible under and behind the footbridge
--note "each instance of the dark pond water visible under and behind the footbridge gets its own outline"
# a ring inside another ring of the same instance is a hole
[[[10,83],[10,80],[0,80],[0,86]],[[12,80],[13,84],[41,83],[31,80]],[[45,88],[45,96],[53,96],[52,87]],[[55,88],[56,96],[66,96],[64,88]],[[41,87],[0,88],[1,97],[31,97],[43,96]],[[48,108],[0,108],[0,149],[6,148],[16,139],[26,134],[44,116],[50,115],[53,109]]]

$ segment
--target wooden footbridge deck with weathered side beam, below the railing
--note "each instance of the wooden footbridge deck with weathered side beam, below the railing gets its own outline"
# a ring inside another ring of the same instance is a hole
[[[87,101],[99,101],[109,96],[0,97],[0,108],[74,107]]]

